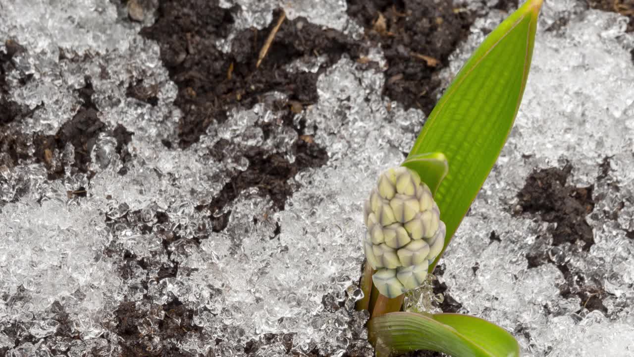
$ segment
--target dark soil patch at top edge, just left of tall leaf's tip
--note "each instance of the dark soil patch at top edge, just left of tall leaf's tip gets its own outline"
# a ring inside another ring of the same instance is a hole
[[[385,53],[389,68],[384,94],[429,115],[441,84],[434,73],[448,65],[449,55],[468,36],[472,15],[455,11],[451,0],[347,0],[347,4],[348,15]]]

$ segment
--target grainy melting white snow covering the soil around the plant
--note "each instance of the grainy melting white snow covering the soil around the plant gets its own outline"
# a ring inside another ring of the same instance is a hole
[[[122,302],[146,314],[139,333],[152,337],[160,320],[174,318],[161,306],[178,299],[193,311],[199,332],[174,341],[183,353],[244,356],[249,341],[268,339],[258,355],[285,355],[292,342],[291,353],[317,348],[340,356],[349,349],[370,356],[363,330],[367,316],[353,309],[363,260],[362,202],[377,173],[402,161],[424,114],[382,97],[381,72],[342,58],[321,75],[318,103],[295,118],[305,119],[307,128],[316,126],[311,134],[327,150],[327,165],[290,179],[299,189],[281,212],[256,189],[242,192],[225,208],[231,212],[228,226],[214,232],[211,212],[197,207],[249,162],[239,156],[214,161],[209,148],[224,138],[238,152],[248,143],[284,153],[294,133],[281,131],[276,142],[264,138],[254,123],[270,122],[276,114],[256,105],[228,113],[225,123],[210,126],[186,150],[167,149],[161,140],[174,135],[181,116],[172,105],[177,89],[158,46],[138,36],[141,25],[124,21],[125,14],[109,1],[46,3],[0,1],[0,39],[15,39],[27,49],[14,58],[18,69],[8,73],[8,98],[31,109],[44,103],[32,118],[10,125],[23,133],[55,133],[75,114],[81,104],[75,90],[91,76],[100,120],[110,129],[120,124],[134,131],[127,144],[132,158],[126,175],[119,175],[124,163],[116,142],[101,133],[90,153],[96,172],[90,180],[68,172],[49,181],[41,163],[0,166],[0,349],[8,348],[11,356],[75,356],[98,348],[103,356],[117,356],[122,347],[115,311]],[[278,4],[223,2],[234,3],[248,10],[238,22],[244,27],[266,26],[270,16],[253,14],[270,15]],[[327,3],[311,10],[311,2],[296,1],[287,11],[316,24],[354,28],[347,24],[345,3]],[[504,16],[491,10],[477,20],[441,75],[445,83]],[[544,30],[556,22],[565,25]],[[634,231],[634,39],[624,33],[625,25],[619,15],[573,1],[545,5],[515,128],[443,260],[439,279],[448,293],[470,314],[514,332],[525,355],[634,353],[634,241],[626,236]],[[60,48],[90,55],[61,61]],[[0,45],[0,51],[6,49]],[[294,70],[302,71],[301,64]],[[18,85],[25,75],[32,80]],[[126,97],[134,77],[158,84],[158,105]],[[598,182],[605,157],[612,170]],[[524,254],[536,236],[548,234],[549,224],[510,212],[529,173],[564,161],[574,167],[573,184],[595,184],[596,201],[588,216],[595,245],[585,255],[570,248],[564,259],[604,282],[607,316],[577,313],[581,301],[559,294],[563,276],[553,264],[527,269]],[[78,187],[86,187],[87,197],[68,195]],[[609,213],[619,203],[614,220]],[[148,225],[153,229],[145,229]],[[501,241],[489,243],[491,231]],[[165,232],[181,239],[169,241]],[[128,264],[124,251],[136,262]],[[129,267],[125,278],[122,264]],[[176,276],[160,276],[175,264]],[[67,320],[59,321],[60,309]],[[15,346],[6,334],[15,327],[32,339]],[[80,339],[55,336],[62,327]]]

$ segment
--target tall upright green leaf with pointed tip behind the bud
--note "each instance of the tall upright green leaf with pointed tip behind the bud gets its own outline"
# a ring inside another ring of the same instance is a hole
[[[451,166],[434,196],[447,226],[443,252],[513,126],[542,1],[528,0],[475,50],[429,115],[408,156],[410,160],[425,152],[443,152]]]

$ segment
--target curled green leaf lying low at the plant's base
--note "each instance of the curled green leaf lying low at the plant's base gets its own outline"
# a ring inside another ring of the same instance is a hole
[[[377,357],[429,349],[453,357],[515,357],[510,333],[481,318],[461,314],[389,313],[370,320]]]

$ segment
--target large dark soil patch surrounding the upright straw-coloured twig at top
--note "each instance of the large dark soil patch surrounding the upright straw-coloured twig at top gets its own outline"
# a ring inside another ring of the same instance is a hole
[[[291,73],[283,67],[299,58],[327,55],[325,67],[337,62],[343,53],[358,57],[361,44],[344,34],[322,29],[304,18],[285,20],[259,68],[259,52],[281,12],[266,29],[240,31],[231,42],[231,52],[216,48],[216,41],[228,36],[232,14],[238,9],[223,9],[217,0],[162,1],[157,21],[141,34],[157,41],[161,58],[178,85],[175,104],[183,111],[179,123],[181,147],[188,147],[212,123],[226,119],[233,107],[248,109],[261,102],[261,95],[280,91],[299,104],[318,99],[318,73]],[[322,68],[323,71],[324,68]],[[285,108],[290,111],[290,105]]]

